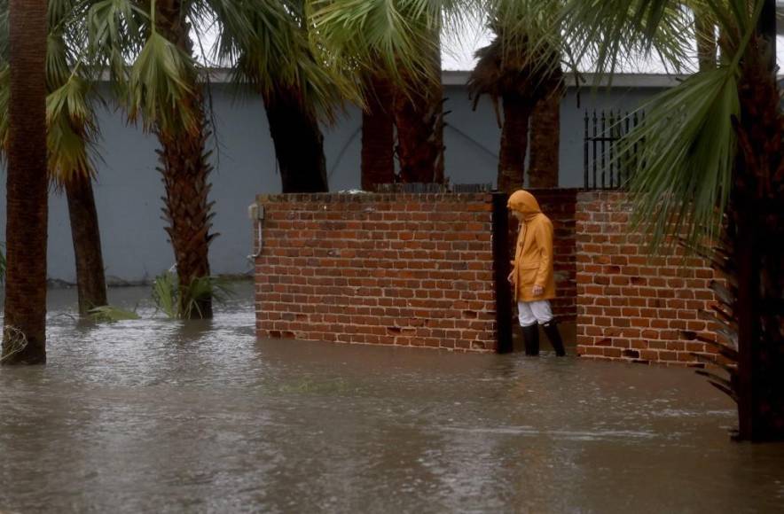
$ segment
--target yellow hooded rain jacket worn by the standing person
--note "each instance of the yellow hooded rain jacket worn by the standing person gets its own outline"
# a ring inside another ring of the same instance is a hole
[[[552,300],[555,298],[553,222],[542,214],[537,199],[528,191],[515,191],[506,206],[524,215],[512,261],[514,298],[517,301]],[[545,292],[534,296],[534,285],[541,286]]]

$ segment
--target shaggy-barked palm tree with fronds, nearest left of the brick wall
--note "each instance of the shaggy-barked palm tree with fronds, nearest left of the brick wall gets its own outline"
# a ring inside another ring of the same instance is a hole
[[[207,7],[181,0],[97,2],[89,23],[91,45],[124,95],[129,120],[142,121],[161,144],[163,214],[175,254],[179,312],[208,318],[211,296],[191,294],[210,275],[208,248],[215,238],[210,233],[203,74],[190,34],[197,8]],[[133,59],[130,67],[128,58]],[[192,303],[196,308],[187,308]]]

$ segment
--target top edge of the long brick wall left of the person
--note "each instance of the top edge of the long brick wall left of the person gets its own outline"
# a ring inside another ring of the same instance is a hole
[[[490,202],[490,193],[291,193],[261,194],[256,201],[262,203],[318,202],[318,203],[375,203],[394,201],[435,202],[442,200],[463,202]]]

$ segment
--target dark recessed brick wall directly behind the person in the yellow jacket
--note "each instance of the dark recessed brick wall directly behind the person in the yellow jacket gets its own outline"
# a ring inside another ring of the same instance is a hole
[[[551,301],[553,314],[561,321],[574,321],[577,315],[576,284],[576,189],[529,190],[542,211],[553,222],[553,268],[557,298]],[[516,225],[512,244],[517,238]],[[517,312],[515,308],[514,312]]]

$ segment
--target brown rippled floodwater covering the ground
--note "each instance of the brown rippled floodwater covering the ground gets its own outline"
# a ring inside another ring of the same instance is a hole
[[[784,510],[784,447],[691,370],[256,340],[250,298],[96,325],[51,292],[50,363],[0,368],[0,511]]]

